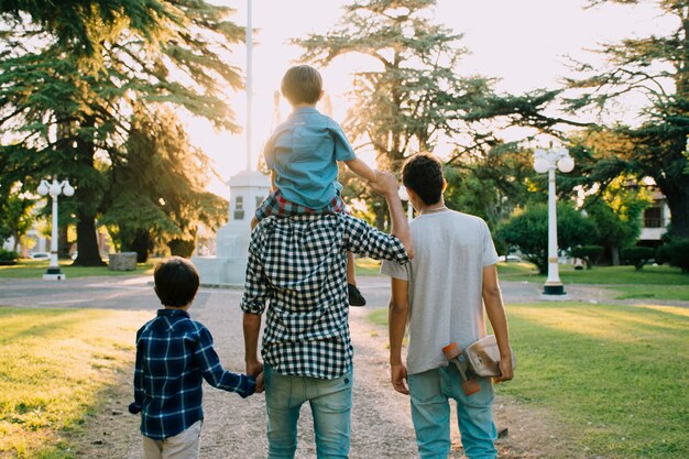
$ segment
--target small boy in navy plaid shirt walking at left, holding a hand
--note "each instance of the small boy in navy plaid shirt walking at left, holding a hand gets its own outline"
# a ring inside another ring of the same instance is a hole
[[[198,291],[194,264],[173,256],[154,271],[155,293],[164,309],[136,332],[134,403],[141,413],[145,459],[198,458],[201,424],[201,382],[247,397],[263,391],[256,378],[223,370],[204,325],[187,309]]]

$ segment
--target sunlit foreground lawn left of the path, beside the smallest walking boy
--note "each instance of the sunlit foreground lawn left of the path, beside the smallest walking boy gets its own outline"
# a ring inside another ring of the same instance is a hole
[[[133,336],[149,316],[0,308],[0,457],[74,458],[65,434],[84,428],[132,364]]]

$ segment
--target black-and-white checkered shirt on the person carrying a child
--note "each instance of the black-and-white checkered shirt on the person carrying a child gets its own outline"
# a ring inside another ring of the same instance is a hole
[[[251,234],[241,308],[263,314],[263,360],[281,374],[335,379],[352,367],[347,252],[408,261],[400,239],[347,214],[267,217]]]

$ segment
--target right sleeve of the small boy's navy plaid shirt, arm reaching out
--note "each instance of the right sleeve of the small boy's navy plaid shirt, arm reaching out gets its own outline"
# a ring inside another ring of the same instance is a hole
[[[245,374],[237,374],[225,370],[212,347],[210,331],[204,326],[198,330],[198,341],[194,358],[201,369],[201,374],[208,384],[228,392],[237,392],[242,398],[253,394],[256,390],[256,380]]]

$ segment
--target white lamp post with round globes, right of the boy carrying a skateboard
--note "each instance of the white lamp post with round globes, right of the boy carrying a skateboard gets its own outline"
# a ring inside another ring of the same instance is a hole
[[[534,152],[534,170],[548,173],[548,278],[544,285],[545,298],[558,299],[565,295],[565,287],[560,282],[557,256],[557,209],[555,206],[555,170],[568,173],[575,168],[575,160],[567,149],[542,150]]]

